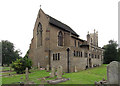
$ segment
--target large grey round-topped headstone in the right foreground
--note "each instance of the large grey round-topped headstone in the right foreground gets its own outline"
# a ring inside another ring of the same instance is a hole
[[[118,68],[118,64],[120,64],[117,61],[113,61],[111,62],[108,66],[107,66],[107,83],[108,84],[118,84],[118,73],[120,72],[120,69]]]

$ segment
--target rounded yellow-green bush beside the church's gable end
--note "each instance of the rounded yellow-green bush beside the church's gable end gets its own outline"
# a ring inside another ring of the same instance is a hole
[[[20,58],[15,62],[12,62],[12,68],[16,71],[17,74],[25,73],[26,67],[28,70],[31,69],[32,61],[29,58]]]

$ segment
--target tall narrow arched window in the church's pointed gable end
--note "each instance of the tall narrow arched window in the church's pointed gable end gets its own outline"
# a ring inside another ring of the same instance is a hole
[[[37,47],[42,46],[42,25],[38,24],[37,27]]]

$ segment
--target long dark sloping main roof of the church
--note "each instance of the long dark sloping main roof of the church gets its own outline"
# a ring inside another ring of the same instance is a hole
[[[49,16],[49,15],[48,15],[48,16]],[[79,37],[79,35],[78,35],[74,30],[72,30],[69,26],[67,26],[66,24],[58,21],[57,19],[55,19],[55,18],[53,18],[53,17],[51,17],[51,16],[49,16],[49,18],[50,18],[50,20],[49,20],[49,23],[50,23],[50,24],[52,24],[52,25],[54,25],[54,26],[56,26],[56,27],[59,27],[60,29],[65,30],[65,31],[67,31],[67,32],[70,32],[70,33],[72,33],[73,35]]]

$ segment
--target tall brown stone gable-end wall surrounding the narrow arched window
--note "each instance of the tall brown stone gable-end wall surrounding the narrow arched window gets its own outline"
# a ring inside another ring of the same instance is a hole
[[[37,66],[38,62],[42,67],[46,67],[48,63],[45,59],[45,38],[46,38],[46,29],[48,28],[48,21],[46,14],[40,9],[34,30],[33,30],[33,39],[30,45],[29,57],[33,60],[33,66]],[[42,46],[37,47],[37,27],[39,22],[42,24]]]

